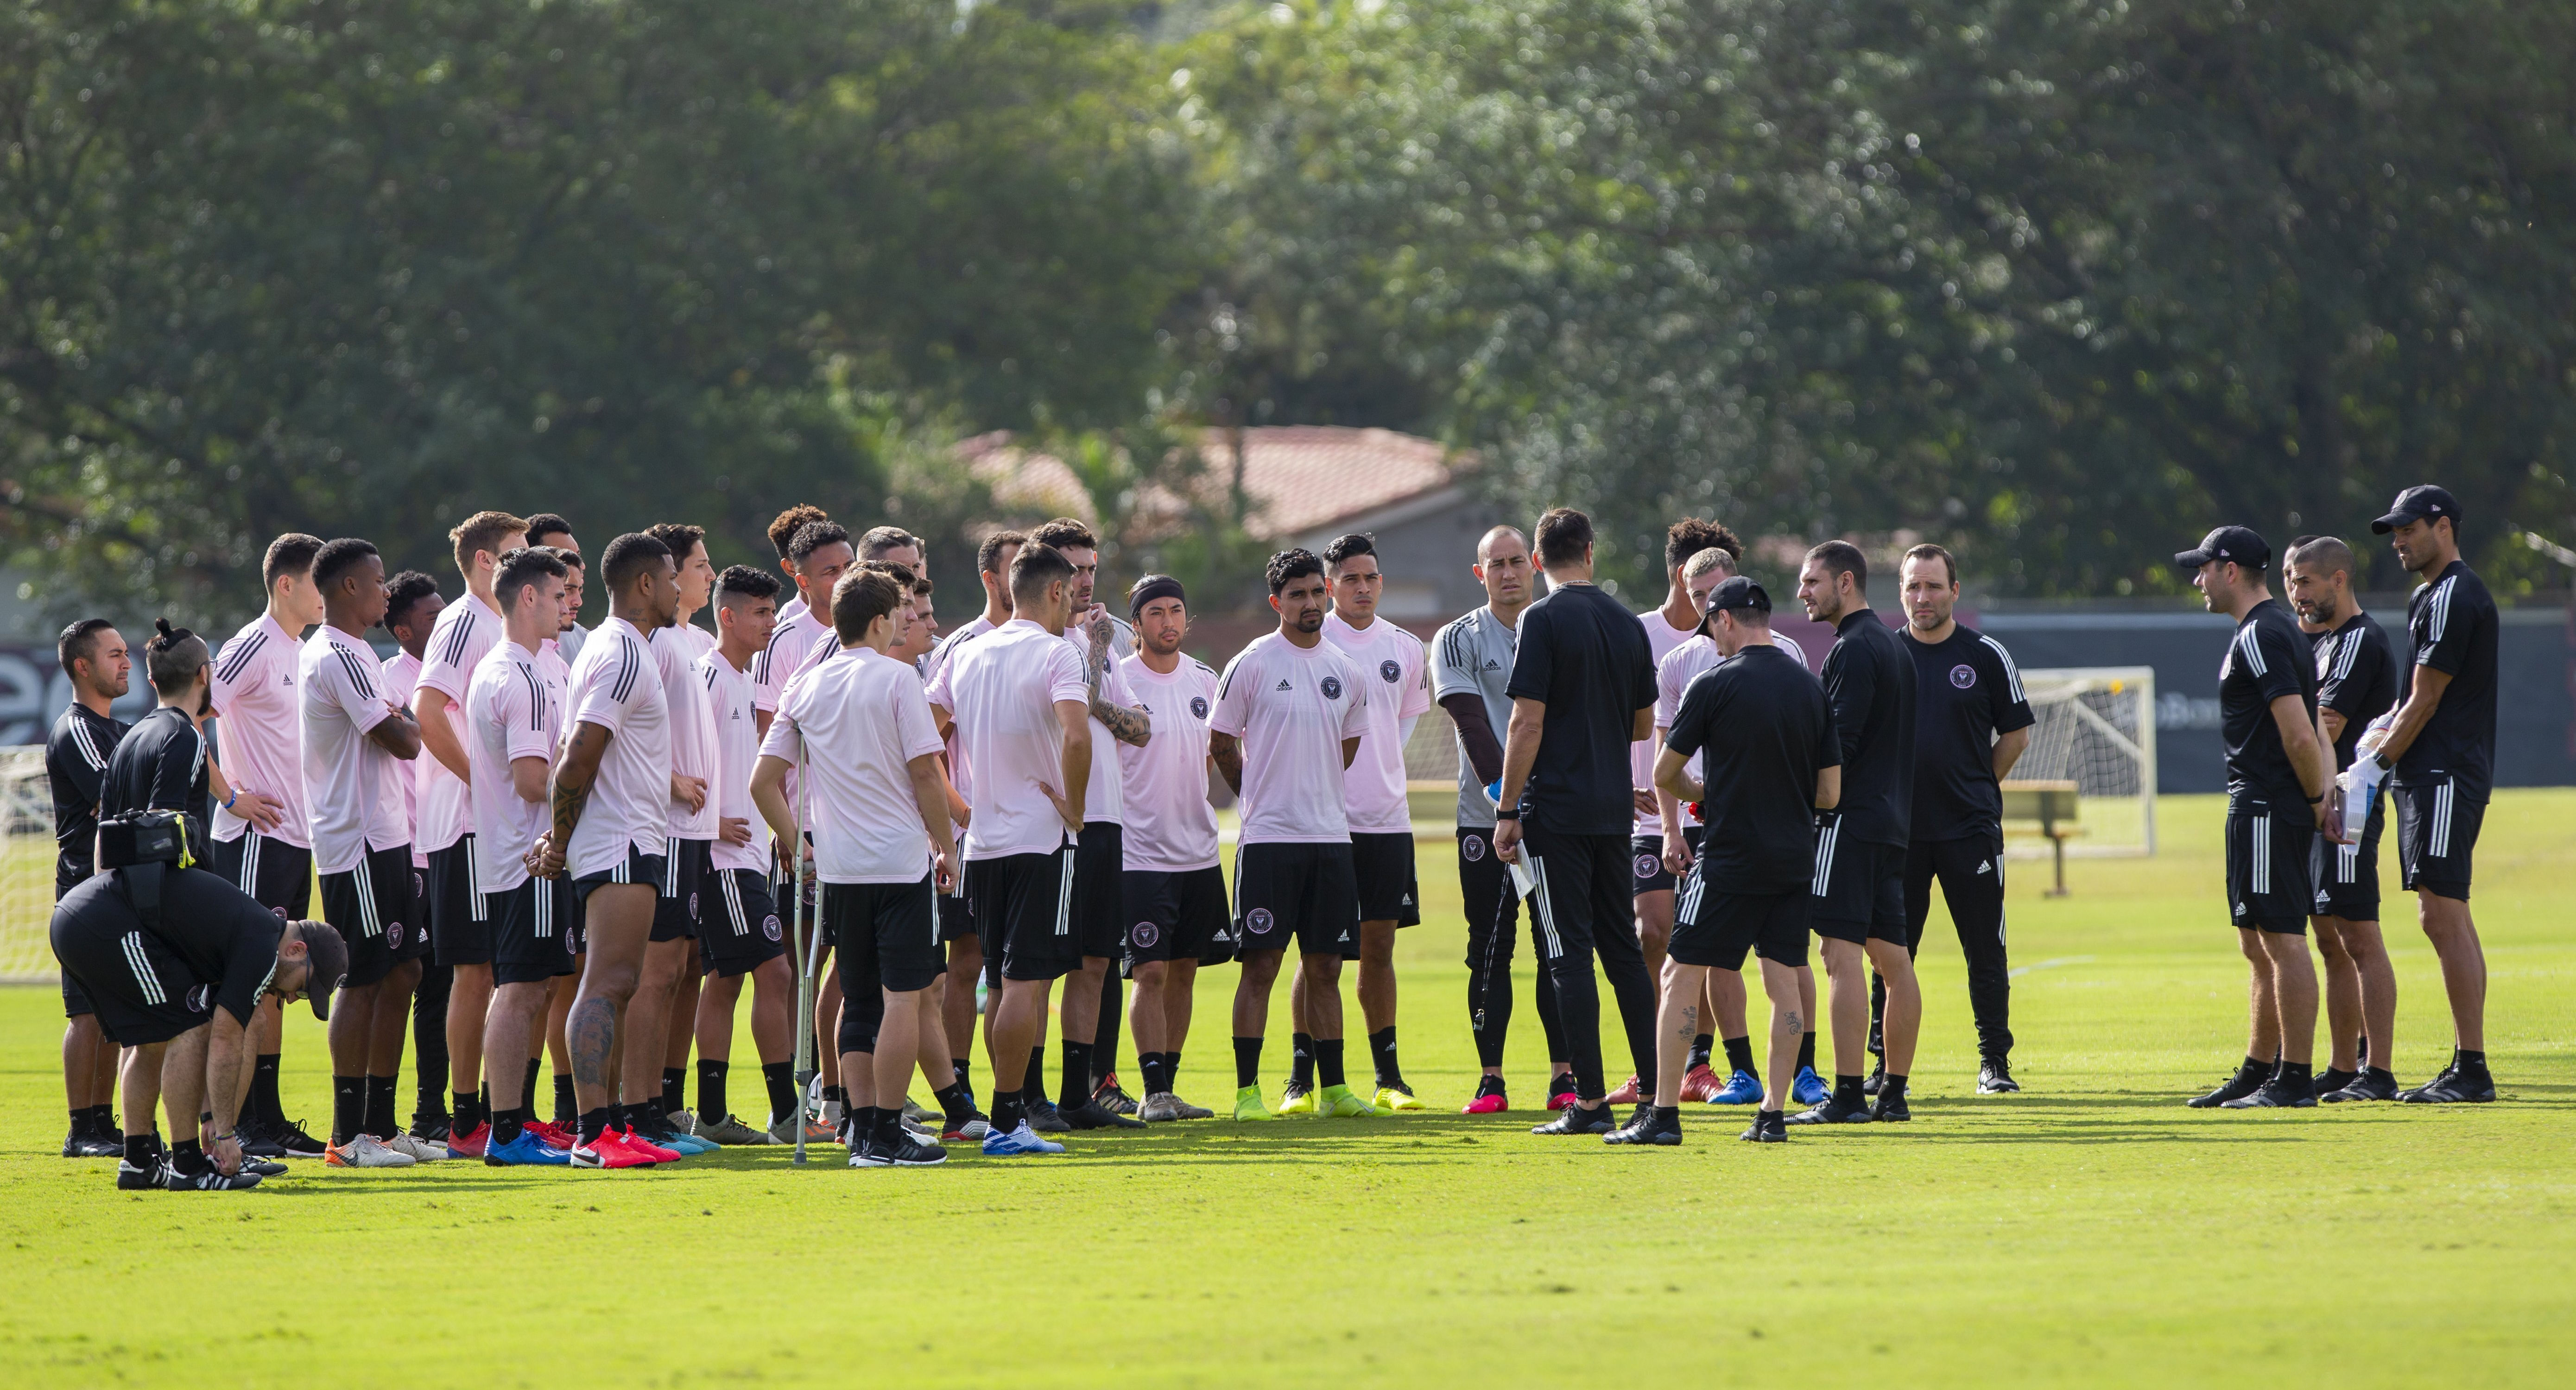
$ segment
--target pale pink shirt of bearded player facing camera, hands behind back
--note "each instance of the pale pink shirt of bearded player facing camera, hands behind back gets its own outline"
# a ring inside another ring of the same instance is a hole
[[[1208,728],[1244,744],[1239,844],[1334,844],[1350,839],[1342,803],[1342,739],[1368,734],[1363,672],[1340,646],[1252,638],[1216,687]]]

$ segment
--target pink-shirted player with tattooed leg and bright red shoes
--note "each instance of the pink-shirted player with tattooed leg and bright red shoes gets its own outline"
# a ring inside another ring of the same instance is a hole
[[[580,1104],[577,1169],[667,1163],[649,1143],[662,1097],[662,1035],[636,1037],[626,1004],[644,973],[662,849],[670,837],[670,703],[644,633],[680,610],[680,566],[652,535],[618,535],[600,556],[608,618],[572,664],[572,734],[554,762],[554,829],[538,875],[572,875],[582,898],[582,983],[564,1022]]]

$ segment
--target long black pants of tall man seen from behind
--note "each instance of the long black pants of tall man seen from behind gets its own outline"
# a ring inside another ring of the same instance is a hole
[[[1533,922],[1538,958],[1556,981],[1556,1017],[1566,1030],[1566,1061],[1574,1063],[1574,1094],[1600,1099],[1602,1086],[1602,999],[1592,981],[1592,955],[1600,952],[1620,1022],[1628,1027],[1628,1055],[1636,1076],[1654,1076],[1654,981],[1646,978],[1646,950],[1636,940],[1631,909],[1633,870],[1628,831],[1561,834],[1528,826],[1522,857],[1538,873]]]

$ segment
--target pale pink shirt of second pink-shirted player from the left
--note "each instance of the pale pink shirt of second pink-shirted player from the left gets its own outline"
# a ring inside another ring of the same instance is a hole
[[[410,767],[368,728],[394,718],[384,698],[384,669],[363,641],[322,623],[296,656],[304,687],[304,806],[314,837],[314,867],[348,873],[368,849],[394,849],[410,837],[402,819],[402,775]]]

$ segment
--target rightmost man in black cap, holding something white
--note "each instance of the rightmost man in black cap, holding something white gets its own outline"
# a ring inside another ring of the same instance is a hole
[[[2460,505],[2439,486],[2409,486],[2370,530],[2424,584],[2406,600],[2414,664],[2406,703],[2370,752],[2396,770],[2401,883],[2442,958],[2455,1050],[2439,1076],[2398,1099],[2491,1102],[2486,1071],[2486,950],[2468,914],[2468,862],[2496,788],[2496,600],[2460,561]],[[2372,1055],[2378,1035],[2372,1035]]]

